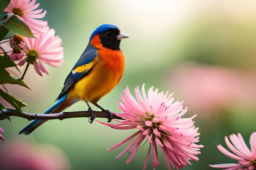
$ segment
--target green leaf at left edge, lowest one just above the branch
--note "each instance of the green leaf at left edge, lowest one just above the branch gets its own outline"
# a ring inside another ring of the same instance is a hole
[[[0,89],[0,96],[9,104],[11,104],[16,110],[21,110],[21,107],[27,106],[27,104],[23,103],[20,99],[16,98],[9,93],[5,93]]]

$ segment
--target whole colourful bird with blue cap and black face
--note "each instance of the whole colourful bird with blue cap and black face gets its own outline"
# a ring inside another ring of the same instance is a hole
[[[92,32],[88,45],[65,79],[63,89],[56,103],[43,114],[60,113],[75,102],[85,101],[91,114],[89,122],[95,119],[89,103],[102,111],[112,113],[97,104],[121,80],[124,74],[124,54],[120,49],[121,39],[129,38],[112,24],[103,24]],[[23,128],[20,134],[29,135],[47,120],[36,119]]]

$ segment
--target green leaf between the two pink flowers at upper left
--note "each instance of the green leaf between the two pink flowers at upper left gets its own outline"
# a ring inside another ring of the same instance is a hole
[[[19,20],[15,16],[13,16],[9,20],[6,20],[4,23],[2,23],[2,25],[5,26],[7,29],[24,37],[35,38],[31,30],[29,29],[29,26],[27,26],[25,22]]]

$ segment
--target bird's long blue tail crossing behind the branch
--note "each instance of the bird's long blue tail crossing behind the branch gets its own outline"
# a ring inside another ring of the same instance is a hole
[[[49,114],[54,112],[54,110],[56,110],[56,108],[58,108],[67,98],[67,93],[64,94],[63,96],[61,96],[61,98],[58,100],[58,102],[56,102],[52,107],[50,107],[49,109],[47,109],[43,114]],[[32,121],[30,124],[28,124],[25,128],[23,128],[22,130],[20,130],[19,135],[20,134],[24,134],[24,135],[29,135],[31,132],[33,132],[38,126],[40,126],[41,124],[43,124],[45,121],[47,120],[43,120],[43,119],[36,119],[34,121]]]

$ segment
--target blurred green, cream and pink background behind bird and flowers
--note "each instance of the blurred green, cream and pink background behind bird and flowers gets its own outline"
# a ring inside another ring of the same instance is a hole
[[[173,92],[175,100],[184,101],[184,107],[188,106],[186,117],[198,115],[194,121],[200,128],[200,144],[204,145],[202,154],[198,155],[200,160],[192,162],[188,170],[211,170],[209,164],[235,163],[216,148],[218,144],[226,147],[226,135],[240,132],[249,145],[249,136],[256,130],[256,1],[36,2],[40,3],[39,9],[47,11],[44,19],[48,25],[62,38],[65,57],[60,68],[47,66],[50,75],[40,77],[33,67],[29,68],[24,81],[32,91],[7,86],[9,92],[28,104],[25,112],[43,113],[52,106],[92,31],[109,23],[119,26],[130,38],[121,42],[126,57],[124,77],[99,101],[100,106],[119,112],[114,100],[120,101],[119,94],[126,86],[141,88],[146,83],[147,89],[155,86],[159,91]],[[66,111],[87,109],[84,102],[77,102]],[[17,158],[15,162],[26,164],[32,159],[24,155],[33,152],[48,158],[38,158],[41,162],[52,163],[56,165],[51,166],[52,169],[60,170],[140,170],[144,165],[147,144],[128,165],[125,164],[128,153],[115,159],[127,145],[107,151],[130,136],[132,130],[114,130],[97,122],[89,124],[88,118],[72,118],[47,121],[31,135],[18,136],[28,123],[19,117],[0,122],[9,142],[0,141],[0,146],[12,148],[1,151],[1,159],[10,157],[8,162],[23,153],[23,159]],[[20,148],[27,149],[17,152]],[[149,160],[147,170],[152,169]],[[164,157],[159,153],[156,169],[166,168]]]

